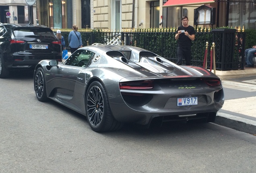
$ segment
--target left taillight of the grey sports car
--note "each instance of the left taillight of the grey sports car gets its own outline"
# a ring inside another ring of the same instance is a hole
[[[119,83],[120,89],[153,89],[153,87],[154,87],[154,83],[152,80]]]

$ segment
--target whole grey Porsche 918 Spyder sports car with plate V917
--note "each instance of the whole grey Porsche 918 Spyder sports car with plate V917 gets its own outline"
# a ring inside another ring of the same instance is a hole
[[[133,46],[85,46],[63,63],[42,60],[34,89],[39,101],[52,99],[85,115],[97,132],[124,123],[148,127],[154,119],[213,122],[224,103],[212,72]]]

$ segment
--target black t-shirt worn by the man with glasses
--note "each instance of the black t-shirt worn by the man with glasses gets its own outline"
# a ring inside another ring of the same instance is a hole
[[[177,30],[177,33],[179,30],[185,30],[188,32],[188,34],[190,35],[194,35],[196,34],[195,32],[195,29],[193,26],[188,26],[188,27],[184,27],[184,26],[179,26],[178,27],[178,30]],[[180,48],[185,48],[185,49],[191,49],[191,41],[190,38],[188,38],[188,36],[186,36],[184,34],[184,32],[182,32],[180,35],[179,35],[179,39],[178,39],[178,47]]]

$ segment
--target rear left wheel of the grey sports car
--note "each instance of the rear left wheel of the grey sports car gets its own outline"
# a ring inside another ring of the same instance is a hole
[[[122,128],[111,114],[107,93],[100,82],[94,81],[86,95],[87,120],[93,131],[114,131]]]

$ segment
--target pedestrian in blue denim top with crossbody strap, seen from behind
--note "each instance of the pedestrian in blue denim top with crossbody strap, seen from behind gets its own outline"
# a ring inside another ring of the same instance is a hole
[[[72,26],[72,31],[68,35],[68,42],[71,54],[78,48],[83,47],[82,37],[76,25]]]

